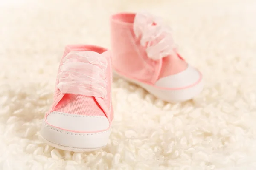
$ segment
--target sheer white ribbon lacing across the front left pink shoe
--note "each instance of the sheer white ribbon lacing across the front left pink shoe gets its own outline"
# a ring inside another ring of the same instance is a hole
[[[61,93],[105,98],[107,60],[93,51],[72,51],[63,59],[57,87]]]

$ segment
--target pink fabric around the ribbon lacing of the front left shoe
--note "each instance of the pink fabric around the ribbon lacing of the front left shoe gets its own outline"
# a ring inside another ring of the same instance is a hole
[[[58,78],[56,81],[56,88],[54,93],[54,102],[49,113],[63,112],[69,114],[79,114],[88,116],[107,116],[110,122],[113,119],[113,108],[111,103],[111,82],[112,82],[112,68],[111,68],[111,56],[110,51],[107,49],[94,46],[94,45],[67,45],[64,51],[64,55],[60,62],[60,67],[63,64],[63,58],[70,51],[95,51],[104,56],[107,61],[105,85],[107,95],[105,98],[85,96],[81,94],[63,94],[57,88],[59,83]],[[58,72],[60,71],[60,67]],[[48,114],[49,114],[48,113]],[[47,114],[47,115],[48,115]]]

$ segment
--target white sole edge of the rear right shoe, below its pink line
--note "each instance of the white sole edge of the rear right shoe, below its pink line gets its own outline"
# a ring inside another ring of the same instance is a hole
[[[162,99],[166,102],[184,102],[184,101],[190,100],[196,95],[200,94],[200,92],[204,88],[204,82],[202,80],[198,82],[198,84],[191,86],[189,88],[183,88],[179,90],[168,90],[168,89],[155,88],[154,86],[139,82],[137,80],[129,79],[127,77],[124,77],[118,74],[114,70],[113,70],[113,76],[121,77],[125,80],[128,80],[129,82],[139,85],[149,93],[153,94],[157,98]]]

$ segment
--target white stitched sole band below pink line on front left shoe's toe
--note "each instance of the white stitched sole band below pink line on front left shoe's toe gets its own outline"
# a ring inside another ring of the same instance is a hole
[[[44,142],[50,146],[72,152],[99,150],[107,145],[110,136],[110,130],[98,133],[74,133],[61,130],[47,124],[45,120],[40,133]]]

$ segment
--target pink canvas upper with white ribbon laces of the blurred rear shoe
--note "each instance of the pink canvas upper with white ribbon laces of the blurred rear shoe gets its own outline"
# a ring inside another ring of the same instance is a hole
[[[112,65],[131,79],[153,84],[184,71],[170,29],[149,14],[121,13],[111,17]]]

